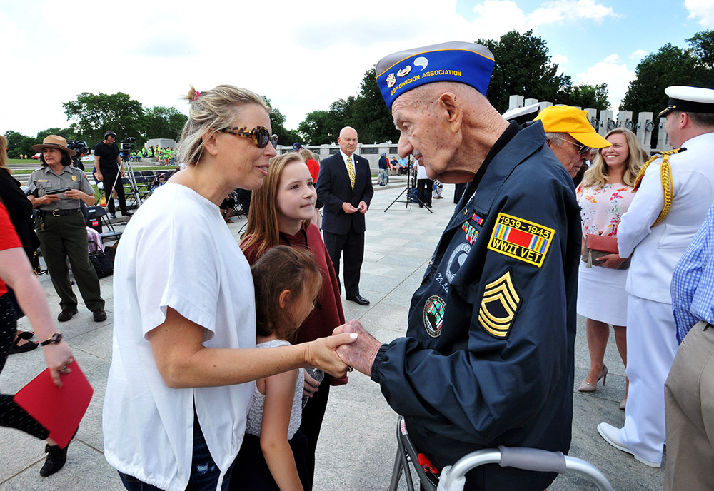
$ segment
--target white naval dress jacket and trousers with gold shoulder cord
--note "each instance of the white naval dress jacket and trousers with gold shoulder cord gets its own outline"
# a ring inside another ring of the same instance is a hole
[[[683,147],[669,158],[673,198],[667,216],[652,226],[664,206],[658,160],[647,168],[618,228],[620,257],[633,254],[625,288],[630,391],[618,436],[650,462],[662,460],[664,384],[678,348],[672,273],[714,202],[714,133],[690,138]]]

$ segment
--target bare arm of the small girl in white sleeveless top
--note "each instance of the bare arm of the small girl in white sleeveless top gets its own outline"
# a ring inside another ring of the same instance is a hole
[[[261,425],[261,450],[281,491],[302,491],[293,450],[288,443],[288,425],[298,374],[291,370],[266,379],[266,400]]]

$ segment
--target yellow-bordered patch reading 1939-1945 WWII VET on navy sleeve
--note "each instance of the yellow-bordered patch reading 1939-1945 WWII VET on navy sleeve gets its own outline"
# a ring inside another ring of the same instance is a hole
[[[488,248],[540,268],[554,237],[555,231],[552,228],[498,213]]]

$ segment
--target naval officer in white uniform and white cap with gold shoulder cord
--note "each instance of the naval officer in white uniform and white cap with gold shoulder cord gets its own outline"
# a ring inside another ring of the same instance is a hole
[[[677,353],[672,273],[714,202],[714,90],[673,86],[665,93],[660,117],[672,145],[684,148],[645,163],[618,228],[620,257],[632,255],[625,285],[630,392],[625,426],[598,425],[605,441],[650,467],[662,461],[664,384]]]

